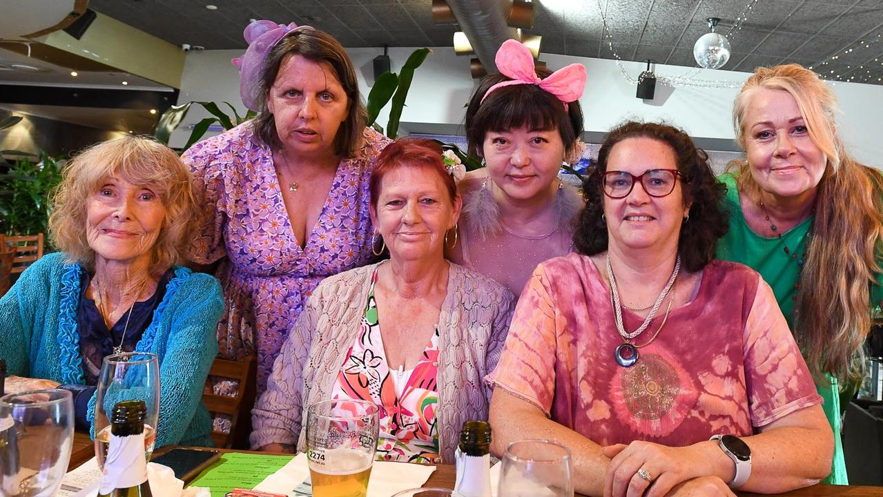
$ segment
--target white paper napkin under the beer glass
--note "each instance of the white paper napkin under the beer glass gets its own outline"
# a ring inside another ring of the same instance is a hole
[[[368,480],[367,497],[389,497],[390,495],[423,486],[435,471],[435,466],[411,463],[388,463],[374,461],[371,479]],[[309,495],[308,478],[310,469],[306,464],[306,454],[298,454],[282,469],[264,478],[255,490],[282,493],[289,497]]]

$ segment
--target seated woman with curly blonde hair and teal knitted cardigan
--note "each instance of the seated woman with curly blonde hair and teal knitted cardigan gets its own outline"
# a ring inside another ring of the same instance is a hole
[[[150,352],[160,362],[156,446],[210,444],[200,395],[223,298],[214,277],[176,266],[194,210],[190,172],[168,147],[126,136],[88,148],[63,174],[49,218],[62,252],[0,298],[6,391],[71,390],[77,426],[89,430],[102,359]]]

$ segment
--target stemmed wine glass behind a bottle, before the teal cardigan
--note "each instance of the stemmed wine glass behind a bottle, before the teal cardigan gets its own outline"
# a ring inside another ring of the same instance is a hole
[[[140,400],[147,406],[144,418],[144,452],[147,460],[154,452],[156,422],[160,411],[160,367],[155,354],[124,352],[102,361],[95,394],[95,456],[104,467],[110,441],[110,414],[122,401]]]

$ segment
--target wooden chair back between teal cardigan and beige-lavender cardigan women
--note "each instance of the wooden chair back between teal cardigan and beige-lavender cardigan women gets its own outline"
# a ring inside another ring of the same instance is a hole
[[[252,433],[252,407],[257,383],[257,359],[248,356],[241,361],[216,358],[208,372],[209,380],[203,390],[202,403],[213,415],[223,414],[230,418],[230,433],[212,432],[212,440],[219,448],[248,448],[248,435]],[[238,381],[235,396],[216,395],[211,379]]]

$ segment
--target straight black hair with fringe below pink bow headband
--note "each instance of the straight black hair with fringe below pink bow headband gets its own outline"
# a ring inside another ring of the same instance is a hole
[[[536,68],[541,79],[552,74],[545,67]],[[564,150],[570,152],[583,134],[583,110],[579,101],[569,102],[567,110],[555,95],[536,85],[511,85],[497,88],[487,100],[481,99],[497,83],[510,79],[500,73],[481,79],[466,108],[466,140],[468,154],[481,157],[481,146],[488,131],[504,131],[527,126],[530,129],[558,130]]]

